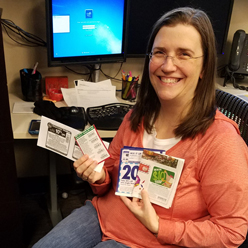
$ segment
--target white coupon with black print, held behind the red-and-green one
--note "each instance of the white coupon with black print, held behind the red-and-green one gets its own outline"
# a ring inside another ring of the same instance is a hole
[[[74,139],[79,133],[77,129],[42,116],[37,145],[75,161],[83,155]],[[109,147],[108,142],[103,143],[106,148]],[[99,163],[95,171],[100,172],[103,165],[104,162]]]

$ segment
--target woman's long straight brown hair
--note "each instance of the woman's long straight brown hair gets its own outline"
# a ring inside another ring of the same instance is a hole
[[[215,76],[216,47],[215,35],[211,22],[205,12],[189,7],[177,8],[164,14],[154,25],[147,53],[151,52],[154,39],[163,26],[186,24],[193,26],[200,34],[204,54],[202,79],[199,79],[195,89],[191,109],[186,117],[174,130],[177,137],[194,138],[204,134],[212,124],[216,112],[215,107]],[[131,129],[137,131],[144,120],[144,128],[151,133],[158,117],[160,102],[149,79],[149,57],[146,56],[137,103],[130,116]],[[152,121],[151,121],[152,120]]]

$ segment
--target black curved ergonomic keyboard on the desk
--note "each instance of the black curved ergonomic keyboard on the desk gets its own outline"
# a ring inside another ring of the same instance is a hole
[[[87,118],[91,125],[99,130],[118,130],[126,113],[133,105],[126,103],[111,103],[87,108]]]

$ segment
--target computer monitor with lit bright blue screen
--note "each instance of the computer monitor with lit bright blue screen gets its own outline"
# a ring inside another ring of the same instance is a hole
[[[129,0],[46,0],[48,66],[126,60]]]

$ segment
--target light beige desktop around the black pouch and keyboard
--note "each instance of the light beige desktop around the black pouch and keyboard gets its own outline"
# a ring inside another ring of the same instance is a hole
[[[20,99],[18,96],[9,94],[10,113],[11,113],[11,122],[12,122],[14,139],[37,139],[38,135],[29,134],[28,128],[31,120],[39,120],[41,117],[34,113],[27,113],[27,114],[13,113],[13,106],[15,102],[24,102],[24,101]],[[63,105],[63,103],[61,103],[61,105]],[[116,134],[116,131],[98,130],[98,133],[101,136],[101,138],[113,138]]]

